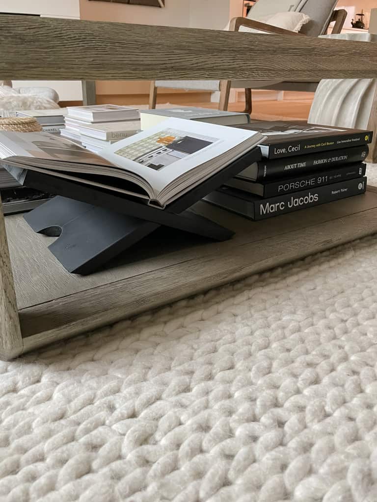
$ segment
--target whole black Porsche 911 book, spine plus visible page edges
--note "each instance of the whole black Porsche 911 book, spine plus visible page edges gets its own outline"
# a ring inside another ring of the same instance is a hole
[[[331,183],[351,180],[364,176],[365,164],[350,164],[349,166],[338,167],[337,169],[316,171],[306,176],[295,176],[294,178],[283,178],[271,181],[270,183],[255,183],[234,177],[228,180],[225,185],[245,192],[259,195],[260,197],[276,197],[286,193],[300,192],[309,188],[316,188]]]

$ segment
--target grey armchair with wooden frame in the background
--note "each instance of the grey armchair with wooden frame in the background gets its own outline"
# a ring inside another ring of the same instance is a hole
[[[265,20],[282,12],[302,13],[310,21],[301,27],[300,34],[318,37],[327,33],[328,26],[335,21],[332,33],[340,33],[346,11],[334,10],[337,0],[258,0],[250,9],[247,18],[235,18],[231,21],[230,31],[243,31],[241,27],[260,30],[267,33],[289,34],[298,36],[297,33],[277,28],[266,24]],[[149,107],[156,107],[157,89],[163,87],[186,90],[211,90],[220,91],[219,109],[227,110],[231,88],[245,89],[245,111],[252,111],[251,89],[273,89],[309,91],[316,90],[319,80],[305,79],[295,81],[266,81],[266,80],[156,80],[151,82],[149,94]]]

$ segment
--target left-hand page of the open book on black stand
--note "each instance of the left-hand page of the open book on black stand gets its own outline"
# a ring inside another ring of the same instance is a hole
[[[61,136],[49,133],[0,133],[0,158],[34,157],[52,161],[74,162],[97,166],[112,166],[102,157]],[[114,166],[113,166],[114,167]]]

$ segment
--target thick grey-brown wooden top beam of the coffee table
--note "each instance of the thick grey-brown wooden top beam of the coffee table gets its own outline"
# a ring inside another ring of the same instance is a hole
[[[4,79],[373,78],[377,76],[375,45],[297,35],[0,15],[0,75]]]

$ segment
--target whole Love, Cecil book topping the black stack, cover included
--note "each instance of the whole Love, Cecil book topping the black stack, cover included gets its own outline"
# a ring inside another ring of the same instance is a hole
[[[371,131],[319,126],[301,120],[255,120],[232,127],[258,131],[266,136],[259,146],[267,159],[358,147],[372,141]]]

